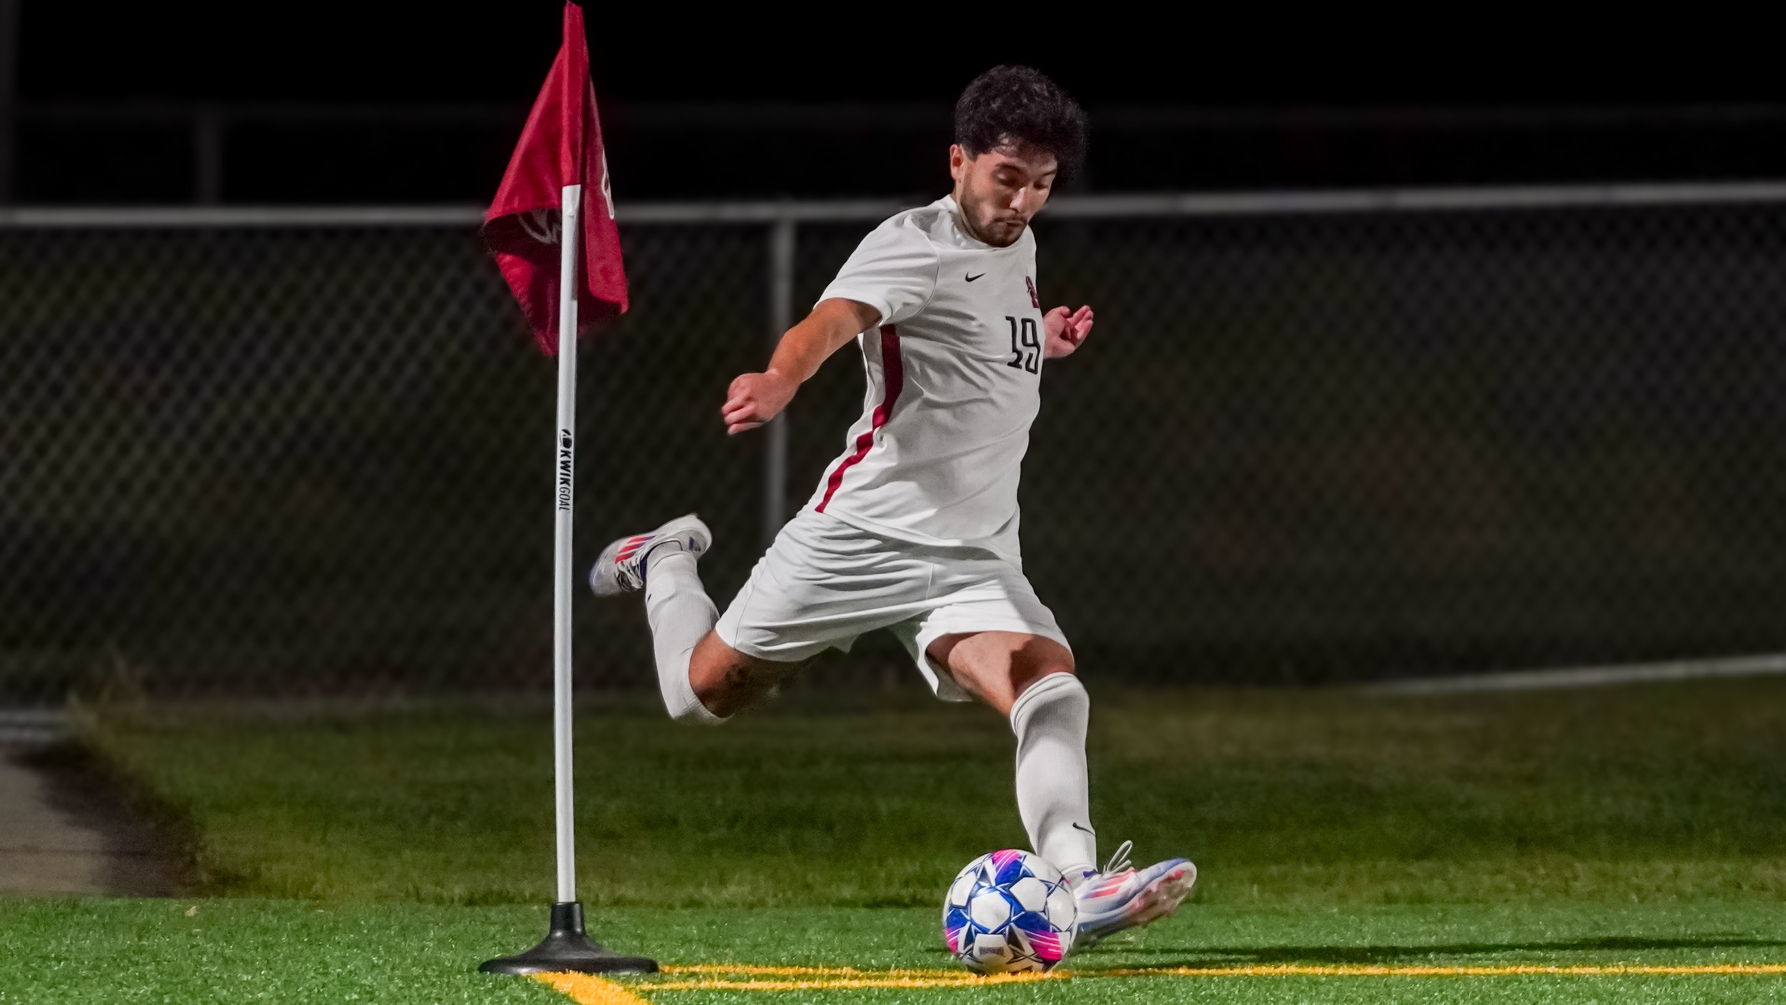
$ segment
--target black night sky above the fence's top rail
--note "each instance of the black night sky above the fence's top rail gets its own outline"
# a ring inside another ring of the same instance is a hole
[[[561,11],[14,2],[21,203],[482,202]],[[1002,61],[1091,111],[1081,191],[1786,177],[1766,34],[1709,12],[1697,34],[1516,11],[586,11],[634,200],[931,193],[956,93]]]

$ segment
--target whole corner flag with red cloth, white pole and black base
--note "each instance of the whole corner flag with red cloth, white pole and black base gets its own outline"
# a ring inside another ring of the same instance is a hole
[[[589,195],[586,195],[589,193]],[[509,159],[484,241],[547,355],[557,350],[557,423],[552,434],[552,798],[557,816],[557,898],[545,941],[513,957],[484,960],[484,973],[652,973],[657,964],[589,941],[577,900],[577,835],[572,800],[570,603],[575,589],[572,514],[577,487],[577,318],[627,309],[620,232],[595,118],[582,7],[564,4],[564,41],[527,129]],[[579,245],[588,253],[579,259]],[[586,311],[580,311],[586,309]],[[545,493],[541,493],[545,494]]]

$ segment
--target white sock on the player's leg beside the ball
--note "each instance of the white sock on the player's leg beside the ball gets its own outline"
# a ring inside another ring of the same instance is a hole
[[[1016,810],[1031,848],[1077,880],[1097,868],[1086,727],[1091,696],[1072,673],[1050,673],[1011,705],[1016,734]]]

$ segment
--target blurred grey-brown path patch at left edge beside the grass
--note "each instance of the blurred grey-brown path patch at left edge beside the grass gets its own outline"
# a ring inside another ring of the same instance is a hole
[[[180,869],[91,771],[0,748],[0,896],[173,896]]]

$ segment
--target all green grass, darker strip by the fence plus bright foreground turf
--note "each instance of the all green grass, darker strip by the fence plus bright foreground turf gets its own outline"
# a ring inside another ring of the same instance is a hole
[[[909,694],[795,693],[718,730],[630,698],[586,709],[597,935],[682,968],[627,984],[672,1003],[1786,1000],[1786,680],[1097,693],[1093,719],[1104,844],[1191,855],[1204,878],[1068,978],[950,976],[943,885],[1023,841],[1011,737]],[[472,973],[545,926],[541,710],[111,716],[88,743],[186,835],[202,889],[0,901],[0,1001],[566,1000]],[[686,969],[713,964],[918,985]]]

